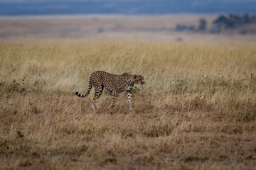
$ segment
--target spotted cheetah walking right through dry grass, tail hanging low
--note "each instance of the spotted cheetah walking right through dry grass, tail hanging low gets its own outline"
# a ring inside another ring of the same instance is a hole
[[[128,73],[124,73],[121,75],[110,74],[104,71],[95,71],[91,74],[89,80],[89,89],[85,94],[80,94],[75,92],[75,95],[84,98],[90,94],[92,86],[95,88],[95,96],[92,100],[92,108],[99,108],[99,104],[97,103],[98,98],[102,94],[103,89],[107,89],[112,93],[112,101],[110,103],[109,108],[114,107],[114,102],[118,93],[122,93],[127,91],[128,103],[129,103],[129,111],[132,111],[132,89],[134,88],[134,84],[144,85],[144,77],[141,75],[132,75]]]

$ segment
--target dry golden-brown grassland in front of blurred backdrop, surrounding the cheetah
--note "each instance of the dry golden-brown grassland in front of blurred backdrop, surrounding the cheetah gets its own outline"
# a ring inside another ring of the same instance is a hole
[[[1,169],[255,169],[256,43],[0,44]],[[129,113],[85,92],[95,70],[142,74]]]

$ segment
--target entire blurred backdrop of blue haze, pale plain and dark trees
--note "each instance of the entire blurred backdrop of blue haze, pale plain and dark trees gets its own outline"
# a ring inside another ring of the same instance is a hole
[[[0,0],[0,40],[256,40],[256,0]]]

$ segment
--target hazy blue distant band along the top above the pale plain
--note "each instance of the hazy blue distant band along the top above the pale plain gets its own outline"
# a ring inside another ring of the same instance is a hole
[[[129,1],[28,1],[0,0],[1,16],[70,14],[178,14],[256,13],[256,1],[129,0]]]

